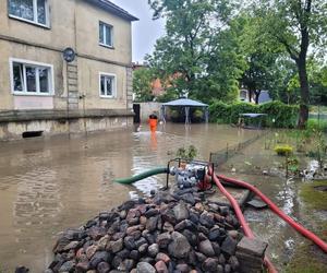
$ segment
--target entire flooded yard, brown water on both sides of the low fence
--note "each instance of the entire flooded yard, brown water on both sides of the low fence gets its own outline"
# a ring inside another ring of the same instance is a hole
[[[43,272],[52,259],[59,233],[166,182],[164,175],[134,186],[114,183],[114,178],[165,166],[179,147],[190,144],[198,150],[197,158],[208,161],[210,152],[247,142],[259,133],[229,126],[167,123],[156,134],[144,127],[0,143],[0,272],[13,272],[16,265]],[[262,175],[280,164],[280,157],[265,150],[265,141],[263,136],[251,143],[218,171],[257,186],[284,213],[315,232],[327,215],[303,210],[299,198],[303,181]],[[294,248],[305,239],[269,210],[250,209],[245,217],[253,232],[269,242],[268,254],[283,271]]]

